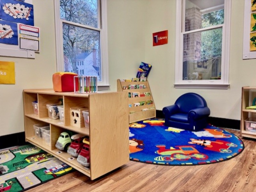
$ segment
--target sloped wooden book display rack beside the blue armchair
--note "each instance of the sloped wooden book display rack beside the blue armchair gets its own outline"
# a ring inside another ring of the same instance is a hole
[[[135,88],[135,89],[124,89],[128,88],[129,85],[144,85],[145,88]],[[156,107],[154,104],[154,100],[150,91],[150,87],[148,81],[120,81],[117,80],[117,91],[118,92],[125,92],[127,95],[131,93],[131,97],[129,98],[129,123],[134,123],[137,121],[155,118],[156,117]],[[132,97],[132,93],[140,93],[143,94],[144,92],[149,92],[150,96],[138,96]],[[146,101],[152,100],[152,104],[147,104]],[[136,103],[145,102],[144,105],[134,106]],[[146,111],[143,111],[148,109]]]

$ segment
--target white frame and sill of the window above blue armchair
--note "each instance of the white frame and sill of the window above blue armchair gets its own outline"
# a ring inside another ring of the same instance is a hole
[[[185,9],[185,0],[176,0],[176,51],[175,51],[175,88],[208,88],[228,89],[229,87],[229,55],[230,55],[230,23],[231,23],[231,0],[224,2],[224,25],[222,27],[222,57],[221,57],[221,79],[220,80],[182,80],[183,65],[183,34],[181,33],[182,17],[180,11]],[[216,27],[216,26],[215,26]],[[220,25],[218,26],[220,27]],[[205,28],[204,28],[205,29]],[[195,30],[196,31],[200,31]],[[191,32],[191,31],[190,31]]]

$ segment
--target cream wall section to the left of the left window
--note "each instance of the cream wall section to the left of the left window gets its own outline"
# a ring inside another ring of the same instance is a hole
[[[35,59],[1,57],[15,62],[15,85],[0,84],[0,136],[24,131],[23,89],[52,88],[56,72],[54,6],[52,0],[33,1],[35,26],[40,27],[41,51]]]

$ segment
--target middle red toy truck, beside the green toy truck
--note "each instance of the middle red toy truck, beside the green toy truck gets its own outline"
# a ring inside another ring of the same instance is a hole
[[[71,144],[68,148],[68,154],[73,156],[73,157],[77,157],[78,154],[80,153],[80,151],[82,150],[82,147],[84,145],[83,143],[83,139],[84,139],[84,135],[83,134],[75,134],[71,136]]]

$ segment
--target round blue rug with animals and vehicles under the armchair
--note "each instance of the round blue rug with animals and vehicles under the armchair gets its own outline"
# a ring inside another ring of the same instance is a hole
[[[244,144],[236,135],[208,125],[191,132],[164,126],[164,119],[129,125],[130,160],[161,165],[201,165],[228,160]]]

